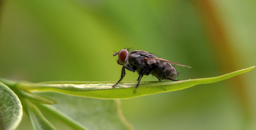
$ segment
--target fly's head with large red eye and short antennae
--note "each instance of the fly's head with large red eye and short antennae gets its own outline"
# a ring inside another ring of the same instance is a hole
[[[120,65],[126,65],[126,64],[129,64],[129,52],[127,49],[123,49],[119,52],[116,52],[113,54],[113,56],[116,56],[118,54],[118,60],[117,60],[117,63],[120,64]]]

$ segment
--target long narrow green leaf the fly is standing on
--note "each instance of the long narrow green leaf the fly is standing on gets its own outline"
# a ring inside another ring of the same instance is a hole
[[[56,91],[59,93],[84,97],[121,99],[182,90],[197,84],[218,82],[251,71],[254,67],[255,66],[211,78],[188,79],[176,82],[141,82],[138,89],[135,89],[136,82],[120,83],[114,89],[112,88],[112,85],[115,82],[42,82],[35,84],[20,84],[18,87],[26,90]]]

